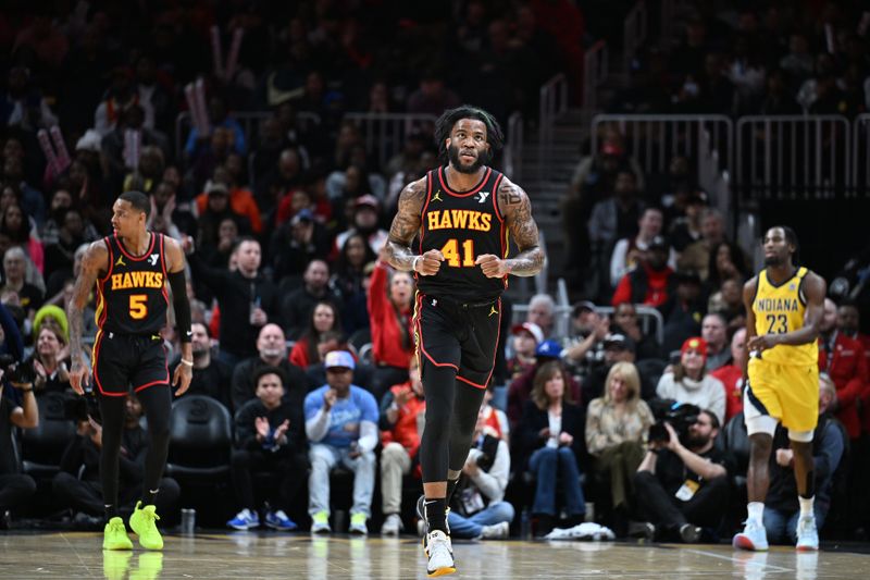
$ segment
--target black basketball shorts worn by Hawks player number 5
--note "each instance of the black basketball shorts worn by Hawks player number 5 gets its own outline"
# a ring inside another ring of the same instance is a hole
[[[125,396],[130,387],[170,382],[166,348],[160,335],[132,335],[100,331],[94,343],[94,382],[102,395]]]

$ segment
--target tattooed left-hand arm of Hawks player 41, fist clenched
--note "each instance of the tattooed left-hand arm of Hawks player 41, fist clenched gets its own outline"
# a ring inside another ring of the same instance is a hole
[[[431,249],[418,256],[411,249],[414,236],[420,232],[421,212],[426,200],[426,178],[411,182],[399,194],[399,211],[389,227],[389,238],[384,246],[384,259],[396,270],[414,271],[430,276],[438,272],[444,255]]]

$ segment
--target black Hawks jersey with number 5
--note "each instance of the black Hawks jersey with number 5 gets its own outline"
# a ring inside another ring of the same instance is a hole
[[[109,273],[97,281],[97,325],[101,332],[159,334],[166,324],[166,260],[163,234],[151,233],[142,256],[133,256],[117,236],[104,237]]]

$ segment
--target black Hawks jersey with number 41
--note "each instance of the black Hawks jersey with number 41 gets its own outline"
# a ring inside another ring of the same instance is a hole
[[[498,298],[508,277],[486,277],[477,256],[508,256],[508,230],[498,211],[497,192],[501,173],[485,168],[481,183],[458,193],[447,185],[444,168],[426,174],[426,200],[420,229],[420,254],[438,249],[445,260],[434,276],[417,276],[423,294],[463,303],[485,303]]]

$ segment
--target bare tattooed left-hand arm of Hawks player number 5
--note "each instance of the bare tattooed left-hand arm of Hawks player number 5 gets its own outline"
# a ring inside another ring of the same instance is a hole
[[[75,280],[73,298],[66,305],[66,318],[70,321],[70,384],[79,395],[85,394],[84,386],[88,384],[90,369],[85,365],[82,354],[82,311],[88,305],[97,277],[109,270],[109,249],[102,239],[94,242],[85,251],[82,259],[82,271]]]

